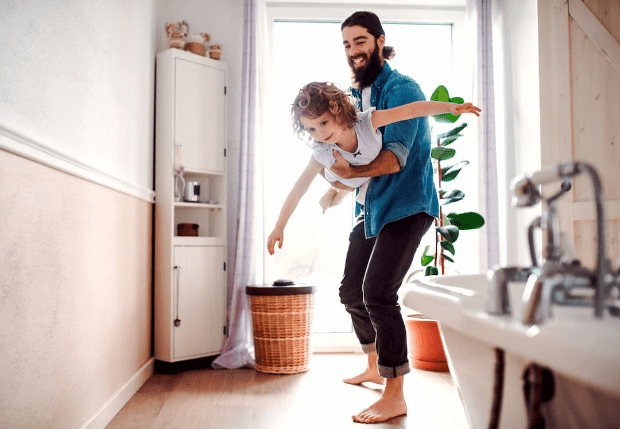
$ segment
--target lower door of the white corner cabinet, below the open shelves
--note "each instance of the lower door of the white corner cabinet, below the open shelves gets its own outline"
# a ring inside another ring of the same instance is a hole
[[[224,248],[175,246],[174,264],[174,359],[219,353],[226,311]]]

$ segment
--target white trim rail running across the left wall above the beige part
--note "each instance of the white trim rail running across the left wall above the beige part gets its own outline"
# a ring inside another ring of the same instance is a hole
[[[0,149],[149,203],[155,191],[126,182],[0,125]]]

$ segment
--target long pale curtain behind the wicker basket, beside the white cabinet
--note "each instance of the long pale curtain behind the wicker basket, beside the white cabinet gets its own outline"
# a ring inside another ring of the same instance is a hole
[[[262,16],[260,0],[245,0],[237,239],[232,266],[233,281],[228,291],[229,333],[222,354],[213,362],[214,368],[255,365],[252,317],[245,288],[264,282],[259,76],[259,29]]]

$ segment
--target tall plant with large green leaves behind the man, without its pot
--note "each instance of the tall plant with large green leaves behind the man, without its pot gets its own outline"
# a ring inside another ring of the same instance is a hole
[[[463,103],[461,97],[450,97],[445,86],[437,87],[431,100],[452,103]],[[433,117],[437,128],[444,128],[443,124],[454,124],[460,115],[444,113]],[[441,124],[441,125],[440,125]],[[456,248],[454,243],[459,238],[460,231],[478,229],[484,225],[484,218],[477,212],[449,212],[445,213],[448,206],[465,198],[465,193],[458,188],[444,189],[444,185],[454,185],[461,170],[469,164],[469,161],[461,160],[450,163],[456,150],[452,145],[462,137],[461,132],[467,127],[467,123],[461,123],[448,131],[435,136],[435,144],[431,149],[431,158],[436,166],[436,186],[439,194],[439,218],[435,220],[435,245],[434,251],[429,253],[430,245],[424,248],[421,263],[425,269],[425,275],[445,274],[445,263],[454,262]],[[449,165],[445,165],[449,164]]]

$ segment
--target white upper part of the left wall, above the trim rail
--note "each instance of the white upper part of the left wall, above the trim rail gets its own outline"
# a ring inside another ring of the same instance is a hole
[[[0,132],[153,187],[154,0],[1,0]]]

